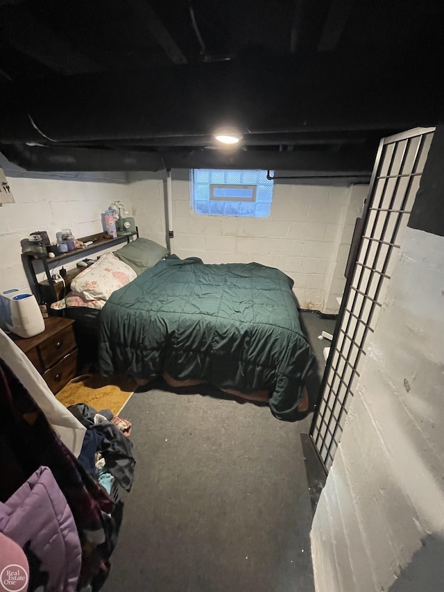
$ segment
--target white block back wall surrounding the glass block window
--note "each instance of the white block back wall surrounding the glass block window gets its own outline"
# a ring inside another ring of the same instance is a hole
[[[130,180],[133,213],[141,235],[165,244],[164,182],[135,176]],[[277,183],[271,216],[257,219],[195,214],[189,182],[173,180],[172,187],[174,253],[197,256],[205,263],[256,261],[278,267],[293,278],[300,307],[339,310],[336,300],[331,305],[330,289],[340,293],[334,274],[339,273],[341,264],[345,270],[343,247],[351,240],[352,189]],[[354,197],[352,203],[355,201]]]

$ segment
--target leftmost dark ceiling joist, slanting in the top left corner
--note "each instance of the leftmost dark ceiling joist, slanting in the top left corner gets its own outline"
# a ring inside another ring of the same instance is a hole
[[[12,47],[61,74],[103,70],[23,7],[2,8],[0,31]]]

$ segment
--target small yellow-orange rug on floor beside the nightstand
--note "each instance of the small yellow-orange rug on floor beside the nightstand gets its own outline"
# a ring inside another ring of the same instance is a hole
[[[68,382],[56,398],[65,407],[86,403],[97,411],[111,409],[114,415],[119,415],[136,388],[135,381],[125,376],[103,378],[99,374],[83,374]]]

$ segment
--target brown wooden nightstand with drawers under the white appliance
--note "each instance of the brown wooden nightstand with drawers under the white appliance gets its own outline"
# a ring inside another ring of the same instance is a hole
[[[44,319],[45,330],[40,335],[23,339],[11,335],[12,341],[31,360],[53,394],[76,376],[77,345],[72,319],[51,316]]]

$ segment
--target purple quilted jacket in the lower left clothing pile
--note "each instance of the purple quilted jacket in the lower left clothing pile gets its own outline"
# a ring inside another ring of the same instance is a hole
[[[74,592],[81,564],[76,523],[47,466],[41,466],[6,504],[0,503],[0,532],[31,550],[49,573],[47,591]]]

